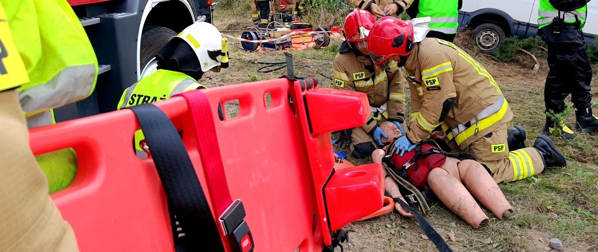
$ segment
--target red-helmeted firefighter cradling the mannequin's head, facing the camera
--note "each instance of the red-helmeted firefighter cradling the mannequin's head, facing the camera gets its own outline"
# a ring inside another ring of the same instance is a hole
[[[405,113],[404,78],[396,63],[388,67],[375,66],[368,56],[368,33],[374,16],[364,10],[353,10],[344,21],[346,41],[334,58],[334,88],[366,93],[371,115],[366,124],[352,129],[351,150],[356,158],[365,158],[383,146],[386,134],[379,122],[391,121],[402,130]]]

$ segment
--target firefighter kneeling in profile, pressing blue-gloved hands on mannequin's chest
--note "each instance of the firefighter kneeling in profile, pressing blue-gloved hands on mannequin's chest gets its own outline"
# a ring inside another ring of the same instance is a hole
[[[566,165],[565,156],[543,135],[533,147],[509,151],[507,100],[490,73],[453,43],[423,38],[421,32],[414,36],[412,21],[383,17],[370,31],[368,48],[376,64],[404,65],[411,89],[411,124],[396,141],[396,152],[414,149],[441,128],[453,151],[470,153],[497,183]]]

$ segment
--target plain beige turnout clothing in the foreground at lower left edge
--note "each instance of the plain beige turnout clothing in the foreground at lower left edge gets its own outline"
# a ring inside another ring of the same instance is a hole
[[[0,251],[78,251],[29,148],[17,90],[0,91]]]

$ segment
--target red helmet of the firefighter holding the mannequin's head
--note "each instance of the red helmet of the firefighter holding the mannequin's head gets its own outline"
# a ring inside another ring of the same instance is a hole
[[[366,41],[374,23],[376,19],[371,13],[355,9],[344,19],[344,38],[352,43]]]

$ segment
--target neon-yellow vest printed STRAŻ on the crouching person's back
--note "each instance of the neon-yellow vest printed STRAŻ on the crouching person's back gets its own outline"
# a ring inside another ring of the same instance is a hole
[[[158,69],[124,90],[117,109],[157,102],[184,91],[200,88],[206,87],[185,73]],[[139,145],[144,139],[144,133],[141,130],[135,131],[135,153],[140,158],[147,156]]]

